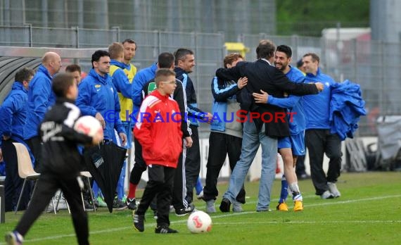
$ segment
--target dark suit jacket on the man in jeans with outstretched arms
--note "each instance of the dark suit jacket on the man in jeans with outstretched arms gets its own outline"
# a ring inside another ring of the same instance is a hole
[[[241,103],[241,109],[243,110],[257,112],[260,115],[263,113],[271,113],[273,115],[271,122],[268,122],[269,116],[265,117],[265,132],[269,137],[286,137],[290,135],[287,117],[284,117],[284,122],[281,119],[275,120],[277,113],[286,113],[286,111],[284,108],[268,103],[255,103],[252,96],[253,92],[260,93],[260,89],[262,89],[277,98],[284,97],[284,92],[295,95],[318,93],[314,84],[291,82],[281,70],[263,60],[238,62],[234,68],[219,68],[216,71],[216,76],[222,80],[234,81],[237,81],[240,77],[248,77],[248,84],[239,92],[238,101]],[[255,125],[260,129],[263,125],[262,120],[255,120]]]

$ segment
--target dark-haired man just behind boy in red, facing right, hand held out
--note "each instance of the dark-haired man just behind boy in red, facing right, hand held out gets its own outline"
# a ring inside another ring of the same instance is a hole
[[[186,201],[192,203],[193,201],[193,187],[196,185],[200,172],[200,146],[198,135],[198,120],[201,122],[211,122],[212,114],[200,111],[196,103],[195,87],[191,77],[188,76],[195,66],[195,56],[193,51],[189,49],[177,49],[174,52],[176,78],[182,81],[186,92],[186,105],[188,106],[188,117],[190,120],[190,128],[192,131],[192,147],[186,151],[185,161],[185,175],[186,175]],[[189,206],[187,210],[181,210],[177,215],[184,215],[184,213],[191,213],[193,206]]]

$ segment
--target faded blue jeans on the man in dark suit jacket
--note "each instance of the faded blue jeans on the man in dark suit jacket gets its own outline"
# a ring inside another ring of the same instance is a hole
[[[246,122],[243,123],[241,156],[231,173],[229,189],[224,193],[223,198],[229,199],[231,203],[236,200],[236,196],[243,187],[253,158],[256,156],[257,149],[262,144],[262,173],[256,211],[267,211],[270,204],[270,191],[276,175],[277,139],[268,137],[265,134],[265,125],[258,132],[255,122],[250,122],[249,120],[248,114]]]

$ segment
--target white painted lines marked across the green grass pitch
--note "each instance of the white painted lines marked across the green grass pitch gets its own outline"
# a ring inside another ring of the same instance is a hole
[[[376,197],[371,197],[371,198],[366,198],[366,199],[353,199],[353,200],[346,200],[346,201],[336,201],[336,202],[325,202],[325,203],[316,203],[316,204],[310,204],[310,205],[305,205],[304,207],[312,207],[312,206],[327,206],[327,205],[336,205],[336,204],[343,204],[343,203],[356,203],[359,201],[374,201],[374,200],[382,200],[382,199],[390,199],[390,198],[395,198],[395,197],[401,197],[401,195],[393,195],[393,196],[376,196]],[[232,216],[232,215],[246,215],[249,213],[256,213],[255,211],[248,211],[248,212],[241,212],[241,213],[227,213],[227,214],[222,214],[222,215],[213,215],[212,218],[224,218],[227,216]],[[186,222],[185,220],[177,220],[177,221],[172,221],[172,224],[177,224],[177,223],[183,223]],[[266,221],[266,222],[255,222],[255,224],[276,224],[276,223],[395,223],[395,222],[401,222],[401,220],[338,220],[338,221]],[[237,222],[214,222],[216,225],[221,224],[221,225],[238,225],[240,223]],[[246,222],[248,224],[254,224],[253,222]],[[154,226],[156,223],[148,223],[145,225],[145,227],[150,227]],[[241,222],[243,224],[243,222]],[[89,232],[89,234],[104,234],[107,232],[118,232],[122,230],[129,230],[129,229],[134,229],[131,225],[128,227],[117,227],[117,228],[112,228],[112,229],[107,229],[107,230],[97,230],[94,232]],[[41,238],[36,238],[36,239],[28,239],[24,240],[24,242],[30,242],[30,241],[45,241],[45,240],[53,240],[53,239],[61,239],[64,237],[75,237],[74,234],[63,234],[63,235],[58,235],[58,236],[51,236],[51,237],[41,237]],[[4,243],[1,243],[4,244]]]

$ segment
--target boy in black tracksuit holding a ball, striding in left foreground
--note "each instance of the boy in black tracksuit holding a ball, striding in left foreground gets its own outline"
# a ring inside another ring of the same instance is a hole
[[[79,184],[78,180],[82,159],[77,144],[98,144],[103,140],[103,134],[89,137],[74,130],[80,111],[74,104],[78,89],[72,75],[57,75],[53,78],[51,87],[56,95],[56,104],[46,113],[39,127],[43,142],[43,170],[37,180],[31,205],[15,230],[6,234],[8,244],[23,244],[23,237],[58,189],[63,191],[70,205],[78,244],[89,244],[88,218],[80,196],[82,182]]]

